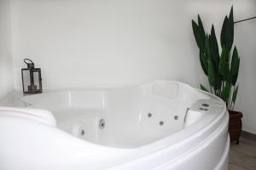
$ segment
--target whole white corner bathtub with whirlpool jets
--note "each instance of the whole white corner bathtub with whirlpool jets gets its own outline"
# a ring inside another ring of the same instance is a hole
[[[1,170],[228,170],[224,102],[181,82],[22,96],[0,108]]]

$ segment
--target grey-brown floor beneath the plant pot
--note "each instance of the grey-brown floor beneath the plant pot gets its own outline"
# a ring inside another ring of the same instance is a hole
[[[230,144],[230,170],[256,170],[256,139],[241,135],[240,144]]]

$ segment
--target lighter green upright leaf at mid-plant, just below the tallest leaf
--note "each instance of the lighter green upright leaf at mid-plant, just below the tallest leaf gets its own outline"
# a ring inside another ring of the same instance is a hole
[[[229,70],[230,70],[229,51],[224,46],[222,49],[219,63],[218,63],[218,72],[222,76],[222,79],[224,81],[227,81],[229,78]]]

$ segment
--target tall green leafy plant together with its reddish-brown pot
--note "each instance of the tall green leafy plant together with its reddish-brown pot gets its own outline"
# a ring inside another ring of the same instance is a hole
[[[236,80],[239,72],[240,58],[234,42],[234,17],[233,7],[230,15],[225,16],[221,35],[221,49],[219,53],[215,29],[212,25],[210,33],[204,30],[201,17],[198,14],[198,22],[192,20],[192,28],[195,41],[200,49],[199,58],[201,67],[208,77],[209,89],[201,85],[201,89],[217,95],[226,103],[230,114],[229,133],[231,141],[239,144],[241,135],[241,112],[234,111],[238,85]]]

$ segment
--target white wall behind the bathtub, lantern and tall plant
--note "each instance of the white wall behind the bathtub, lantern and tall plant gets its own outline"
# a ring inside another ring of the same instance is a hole
[[[191,19],[201,14],[207,29],[214,22],[219,35],[231,4],[237,20],[256,13],[253,0],[13,0],[15,88],[26,56],[43,69],[44,88],[119,87],[154,79],[198,87],[207,79]],[[237,110],[244,113],[244,129],[256,133],[254,30],[255,21],[236,26]]]

